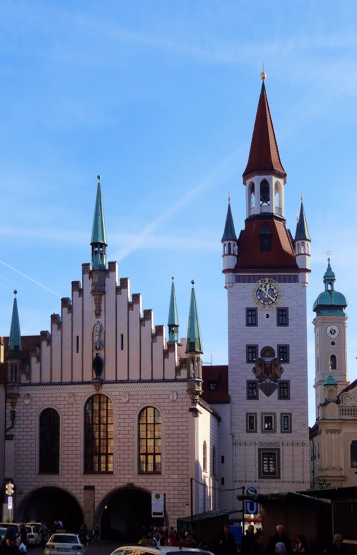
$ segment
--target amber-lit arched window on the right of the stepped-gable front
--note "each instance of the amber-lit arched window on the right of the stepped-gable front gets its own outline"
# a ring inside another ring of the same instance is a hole
[[[161,416],[154,407],[139,415],[139,472],[161,472]]]

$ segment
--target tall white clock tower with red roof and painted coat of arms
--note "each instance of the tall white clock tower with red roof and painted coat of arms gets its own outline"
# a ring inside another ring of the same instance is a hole
[[[226,486],[251,485],[268,493],[309,485],[306,287],[310,237],[303,205],[295,239],[285,223],[287,173],[280,160],[265,73],[261,77],[243,172],[246,220],[237,239],[228,204],[222,258],[228,294],[232,434],[231,457],[228,451],[226,455],[232,461],[233,477]]]

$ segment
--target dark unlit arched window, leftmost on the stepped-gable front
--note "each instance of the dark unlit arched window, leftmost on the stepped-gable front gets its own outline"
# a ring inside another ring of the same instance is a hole
[[[59,474],[59,414],[45,408],[39,418],[39,474]]]

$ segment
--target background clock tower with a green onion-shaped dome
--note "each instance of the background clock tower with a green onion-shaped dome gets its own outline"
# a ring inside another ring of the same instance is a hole
[[[336,395],[348,385],[346,328],[348,316],[345,314],[347,299],[335,291],[336,276],[328,258],[324,274],[325,290],[314,302],[315,326],[315,393],[316,417],[319,418],[320,404],[325,402],[324,383],[332,374],[336,380]]]

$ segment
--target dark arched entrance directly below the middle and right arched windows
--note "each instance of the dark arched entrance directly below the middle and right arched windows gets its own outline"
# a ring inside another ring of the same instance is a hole
[[[143,528],[162,526],[163,518],[151,517],[151,495],[137,488],[110,493],[98,509],[101,537],[121,543],[138,542]],[[96,521],[98,522],[98,521]]]

